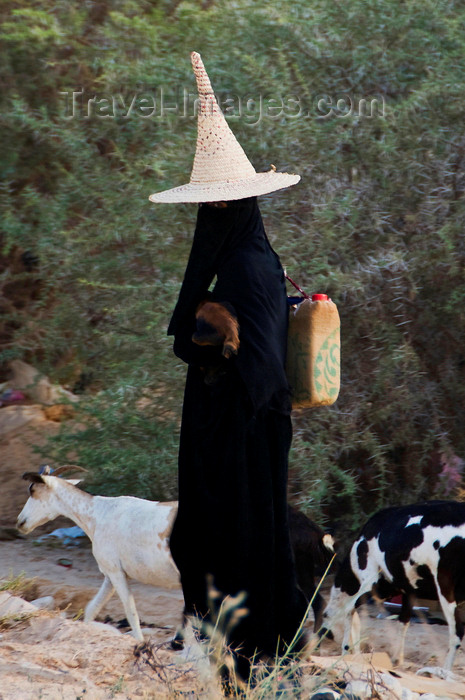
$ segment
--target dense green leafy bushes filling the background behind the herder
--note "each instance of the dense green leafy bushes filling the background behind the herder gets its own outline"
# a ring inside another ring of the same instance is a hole
[[[24,279],[40,281],[26,318],[9,308],[1,358],[84,391],[85,430],[56,458],[76,451],[109,493],[175,494],[184,370],[166,326],[195,209],[147,197],[190,172],[192,48],[241,98],[230,124],[256,169],[302,174],[262,199],[267,230],[341,314],[341,395],[296,412],[291,496],[353,529],[441,495],[437,456],[465,456],[462,3],[6,0],[1,15],[3,253],[32,251]],[[271,99],[285,108],[260,116]]]

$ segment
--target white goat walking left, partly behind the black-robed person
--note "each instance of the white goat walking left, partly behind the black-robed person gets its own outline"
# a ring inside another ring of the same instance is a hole
[[[67,465],[58,467],[52,476],[46,466],[40,474],[23,474],[30,482],[30,496],[18,515],[17,528],[28,533],[59,515],[77,523],[92,541],[92,553],[105,577],[85,609],[84,621],[94,620],[116,590],[134,637],[143,641],[127,578],[152,586],[179,586],[168,542],[178,504],[132,496],[92,496],[76,488],[79,479],[59,479],[65,471],[86,470]]]

